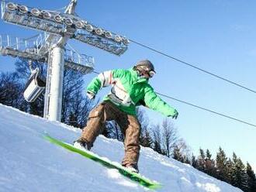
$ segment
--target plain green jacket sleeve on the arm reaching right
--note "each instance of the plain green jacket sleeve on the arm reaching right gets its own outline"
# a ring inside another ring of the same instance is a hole
[[[161,112],[163,115],[173,116],[176,113],[175,108],[172,108],[159,96],[157,96],[154,89],[150,85],[145,88],[144,101],[148,108]]]

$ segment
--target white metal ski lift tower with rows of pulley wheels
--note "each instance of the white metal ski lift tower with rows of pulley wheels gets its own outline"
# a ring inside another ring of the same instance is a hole
[[[123,54],[130,43],[126,37],[78,17],[74,12],[76,5],[77,0],[71,0],[64,12],[56,12],[2,1],[5,22],[44,32],[33,41],[0,36],[0,53],[48,63],[44,117],[53,121],[61,121],[64,67],[83,74],[94,69],[93,57],[67,50],[67,40],[77,39],[117,56]]]

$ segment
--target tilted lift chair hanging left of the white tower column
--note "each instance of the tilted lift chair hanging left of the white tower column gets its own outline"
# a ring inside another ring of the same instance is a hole
[[[45,89],[46,81],[42,77],[39,68],[33,70],[31,60],[29,60],[29,69],[31,75],[25,85],[23,96],[26,101],[33,102],[36,101],[36,98],[38,98]]]

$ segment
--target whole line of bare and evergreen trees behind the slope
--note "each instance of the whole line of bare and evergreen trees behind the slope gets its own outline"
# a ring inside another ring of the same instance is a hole
[[[40,95],[33,103],[28,103],[22,96],[30,70],[27,60],[19,59],[15,63],[16,70],[12,73],[0,74],[0,103],[18,108],[33,115],[43,117],[44,95]],[[40,68],[46,76],[46,64],[33,62],[33,68]],[[64,70],[64,88],[62,100],[61,122],[83,129],[88,119],[88,113],[98,103],[90,101],[85,96],[85,82],[83,77],[74,70]],[[199,149],[199,156],[194,156],[184,139],[178,136],[170,118],[164,118],[161,124],[150,123],[143,108],[137,108],[137,117],[141,124],[140,145],[150,147],[157,153],[176,159],[182,163],[189,163],[195,169],[230,183],[247,192],[256,191],[254,170],[249,163],[244,165],[234,153],[228,158],[220,148],[213,159],[209,149]],[[107,122],[102,132],[111,139],[124,140],[123,133],[116,122]]]

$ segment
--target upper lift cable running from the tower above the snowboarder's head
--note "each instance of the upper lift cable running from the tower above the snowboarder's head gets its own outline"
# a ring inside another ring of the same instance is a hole
[[[161,52],[161,51],[159,51],[159,50],[155,50],[154,48],[151,48],[150,46],[146,46],[146,45],[144,45],[144,44],[142,44],[142,43],[138,43],[138,42],[136,42],[136,41],[133,40],[133,39],[129,39],[129,40],[130,40],[130,42],[136,43],[136,44],[139,45],[139,46],[143,46],[144,48],[147,48],[148,50],[154,51],[155,53],[159,53],[159,54],[161,54],[161,55],[163,55],[163,56],[165,56],[165,57],[168,57],[168,58],[170,58],[170,59],[172,59],[172,60],[176,60],[176,61],[178,61],[179,63],[183,63],[183,64],[185,64],[185,65],[187,65],[187,66],[189,66],[189,67],[192,67],[192,68],[194,68],[194,69],[196,69],[196,70],[200,70],[200,71],[202,71],[203,73],[209,74],[209,75],[211,75],[211,76],[213,76],[213,77],[219,78],[220,80],[226,81],[226,82],[228,82],[228,83],[230,83],[230,84],[234,84],[234,85],[236,85],[236,86],[238,86],[238,87],[244,88],[244,89],[246,89],[247,91],[251,91],[251,92],[253,92],[254,94],[256,94],[256,91],[252,90],[251,88],[244,87],[243,85],[237,84],[237,83],[235,83],[234,81],[230,81],[230,80],[228,80],[227,78],[220,77],[220,76],[217,75],[217,74],[213,74],[213,73],[211,73],[211,72],[209,72],[209,71],[207,71],[207,70],[203,70],[202,68],[196,67],[195,65],[192,65],[192,64],[190,64],[190,63],[187,63],[187,62],[185,62],[185,61],[183,61],[183,60],[179,60],[179,59],[177,59],[177,58],[175,58],[175,57],[171,57],[170,55],[168,55],[168,54],[166,54],[166,53],[163,53],[163,52]]]

